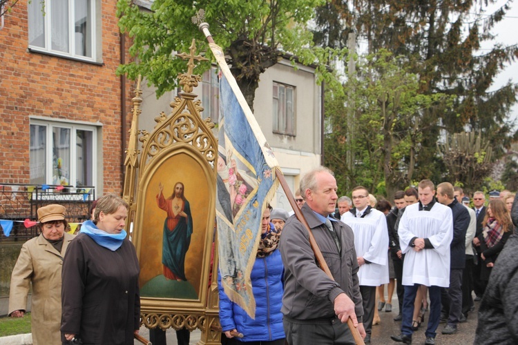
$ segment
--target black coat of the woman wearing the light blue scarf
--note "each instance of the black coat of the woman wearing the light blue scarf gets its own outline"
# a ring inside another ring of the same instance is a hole
[[[112,251],[77,235],[61,273],[61,335],[75,334],[84,344],[133,344],[133,332],[140,328],[139,273],[128,239]]]

